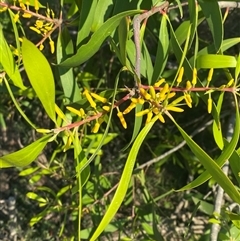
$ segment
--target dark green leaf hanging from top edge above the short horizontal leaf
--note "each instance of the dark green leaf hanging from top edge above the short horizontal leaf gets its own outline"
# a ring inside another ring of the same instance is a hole
[[[214,41],[216,53],[220,50],[223,40],[222,14],[216,0],[198,0],[204,16],[206,17]]]

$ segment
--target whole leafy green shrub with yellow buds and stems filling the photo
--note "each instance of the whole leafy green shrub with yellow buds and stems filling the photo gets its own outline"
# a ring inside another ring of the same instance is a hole
[[[34,191],[26,193],[40,207],[29,221],[31,226],[39,225],[48,215],[60,214],[58,236],[68,240],[97,240],[104,230],[106,236],[119,232],[119,238],[125,236],[125,240],[164,240],[157,225],[161,222],[157,202],[164,203],[170,194],[192,190],[210,178],[240,205],[240,57],[231,53],[240,38],[224,38],[228,12],[222,16],[217,1],[187,3],[189,16],[176,26],[176,9],[182,12],[186,5],[179,1],[140,0],[130,4],[122,0],[62,0],[55,8],[50,1],[0,2],[0,15],[9,19],[14,36],[11,41],[6,27],[0,24],[0,91],[6,99],[10,97],[21,121],[25,120],[39,137],[21,150],[1,156],[0,167],[17,167],[19,176],[29,177],[36,185]],[[200,36],[200,24],[205,20],[212,38],[206,44]],[[174,68],[168,66],[170,62]],[[229,99],[235,124],[227,141],[222,116],[229,109]],[[31,106],[33,100],[49,121],[30,120],[34,114],[25,113],[24,103]],[[187,133],[186,118],[195,121],[195,116],[187,113],[202,112],[201,108],[213,120],[210,135],[216,152]],[[0,111],[4,123],[6,108]],[[117,180],[104,173],[108,167],[104,167],[103,153],[126,135],[130,141],[125,147],[119,145],[110,151],[115,157],[121,153],[126,160],[123,166],[111,164],[118,176],[117,187],[113,185]],[[155,147],[148,145],[148,140]],[[176,154],[175,146],[182,140],[190,150]],[[143,171],[150,164],[134,170],[137,159],[142,161],[144,148],[156,156],[169,149],[162,159],[149,161],[156,165],[154,175],[158,172],[161,176],[170,156],[195,179],[180,187],[175,178],[175,185],[154,197],[146,186],[150,177]],[[35,161],[44,149],[47,161]],[[228,160],[233,173],[229,177],[221,169]],[[38,185],[51,177],[58,185]],[[129,219],[136,218],[142,224],[138,224],[141,228],[129,228],[134,230],[130,234],[124,228],[131,226],[128,218],[114,217],[120,207],[131,207],[135,202],[135,182],[147,211],[136,207],[136,216]],[[106,194],[106,190],[115,189],[113,197]],[[102,199],[104,205],[100,205]],[[192,196],[196,205],[192,215],[197,209],[212,215],[212,206],[209,208],[202,199]],[[166,203],[171,205],[171,201]],[[229,230],[239,228],[239,213],[225,209],[223,214],[233,225],[222,235],[237,238]],[[216,217],[210,221],[218,222]],[[67,220],[74,222],[75,230],[67,231]],[[94,225],[87,225],[86,220]]]

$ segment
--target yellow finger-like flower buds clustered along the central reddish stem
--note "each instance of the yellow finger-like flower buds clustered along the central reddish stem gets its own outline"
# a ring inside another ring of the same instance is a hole
[[[221,86],[219,88],[209,87],[209,83],[213,76],[213,69],[210,69],[206,78],[206,85],[202,87],[196,87],[195,85],[197,84],[198,77],[197,70],[194,68],[192,81],[187,80],[185,82],[185,86],[180,87],[179,85],[182,83],[183,74],[184,68],[181,67],[178,75],[176,76],[176,81],[174,81],[174,83],[176,83],[175,87],[169,86],[165,79],[160,79],[152,86],[140,85],[137,97],[133,97],[133,95],[130,93],[121,99],[122,101],[117,101],[114,105],[114,108],[117,110],[117,116],[123,128],[127,129],[125,115],[135,109],[137,105],[142,106],[142,108],[139,112],[136,113],[136,117],[138,118],[146,116],[145,124],[148,124],[155,116],[157,116],[160,122],[165,123],[164,114],[166,112],[183,112],[184,109],[181,108],[182,105],[187,105],[189,108],[192,108],[193,101],[191,95],[194,91],[204,91],[205,94],[208,94],[208,113],[211,113],[213,103],[211,93],[214,91],[221,91],[224,88],[228,88],[234,82],[233,79],[231,79],[227,85]],[[177,92],[182,94],[177,96]],[[83,95],[86,97],[90,107],[93,109],[93,111],[91,111],[90,119],[89,114],[86,114],[82,108],[80,110],[76,110],[72,107],[67,107],[67,109],[77,114],[79,117],[81,117],[81,119],[85,119],[86,122],[95,120],[95,124],[92,127],[92,132],[97,133],[101,124],[104,122],[104,115],[107,114],[111,109],[111,104],[108,102],[107,98],[96,93],[92,93],[87,89],[84,90]],[[121,111],[121,103],[129,99],[131,103],[124,111]],[[100,107],[96,101],[101,102],[103,106]],[[92,118],[93,115],[95,115],[96,118]]]

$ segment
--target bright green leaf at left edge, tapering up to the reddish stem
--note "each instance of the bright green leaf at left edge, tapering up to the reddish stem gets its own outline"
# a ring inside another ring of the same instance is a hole
[[[0,168],[24,167],[33,162],[52,135],[46,135],[23,149],[0,157]]]

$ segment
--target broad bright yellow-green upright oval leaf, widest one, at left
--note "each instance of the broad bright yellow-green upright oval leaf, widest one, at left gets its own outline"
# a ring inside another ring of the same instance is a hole
[[[22,43],[23,65],[29,81],[48,116],[55,122],[55,84],[51,67],[41,51],[26,38]]]

